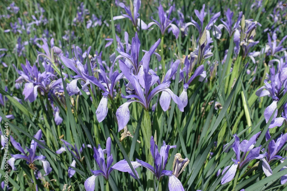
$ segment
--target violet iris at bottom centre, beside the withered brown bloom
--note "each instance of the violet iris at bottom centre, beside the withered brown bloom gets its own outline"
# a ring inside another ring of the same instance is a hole
[[[182,183],[176,176],[172,174],[172,171],[164,170],[168,159],[168,151],[169,149],[175,147],[176,145],[166,145],[166,143],[163,141],[162,147],[160,148],[159,152],[158,145],[156,145],[154,137],[152,136],[150,138],[150,152],[152,153],[152,157],[154,158],[154,166],[139,159],[136,159],[136,161],[132,161],[131,165],[133,166],[133,168],[138,168],[140,166],[147,168],[150,172],[154,174],[158,181],[160,181],[163,176],[168,176],[168,188],[170,191],[184,191]],[[114,166],[112,166],[112,168],[121,172],[129,172],[129,174],[131,174],[135,178],[132,173],[131,167],[126,160],[121,160],[117,162]]]

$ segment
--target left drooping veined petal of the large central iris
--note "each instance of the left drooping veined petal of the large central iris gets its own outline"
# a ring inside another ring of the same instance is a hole
[[[117,109],[116,116],[118,120],[119,131],[121,131],[129,122],[129,105],[134,101],[136,100],[130,99]]]

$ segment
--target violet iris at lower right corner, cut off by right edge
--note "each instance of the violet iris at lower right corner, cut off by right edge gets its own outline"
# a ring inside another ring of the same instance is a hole
[[[265,134],[266,141],[268,141],[271,136],[269,131]],[[266,176],[272,175],[272,170],[270,168],[269,163],[273,160],[280,160],[280,162],[284,162],[285,158],[277,155],[277,153],[280,151],[280,149],[283,147],[283,145],[287,141],[287,133],[281,134],[280,137],[277,139],[272,139],[268,145],[267,153],[265,155],[266,159],[262,159],[262,168]],[[283,167],[281,170],[284,170],[286,168]],[[284,176],[281,176],[281,184],[285,184],[287,182],[287,174]]]

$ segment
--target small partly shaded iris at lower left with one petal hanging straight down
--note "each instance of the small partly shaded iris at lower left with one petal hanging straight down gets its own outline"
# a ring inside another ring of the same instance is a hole
[[[65,144],[65,146],[67,147],[68,151],[69,151],[70,153],[72,153],[72,155],[73,155],[73,161],[72,161],[72,163],[71,163],[71,166],[75,168],[75,167],[76,167],[76,161],[75,161],[74,158],[76,158],[76,159],[79,160],[79,161],[81,160],[81,156],[80,156],[80,154],[78,153],[76,144],[75,144],[74,147],[73,147],[73,145],[71,145],[71,144],[68,143],[67,141],[65,141],[65,140],[63,140],[63,139],[61,139],[61,141]],[[56,153],[57,153],[57,154],[61,154],[61,153],[63,153],[64,151],[67,151],[67,150],[66,150],[66,147],[64,147],[64,145],[63,145],[60,149],[58,149],[58,150],[56,151]],[[71,147],[71,148],[70,148],[70,147]],[[87,147],[92,148],[91,145],[87,145]],[[85,144],[83,144],[82,147],[79,149],[80,153],[83,152],[83,149],[84,149],[84,148],[85,148]],[[71,178],[72,176],[74,176],[75,172],[76,172],[76,171],[75,171],[73,168],[69,167],[69,168],[68,168],[68,176],[69,176],[69,178]]]

